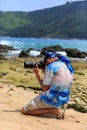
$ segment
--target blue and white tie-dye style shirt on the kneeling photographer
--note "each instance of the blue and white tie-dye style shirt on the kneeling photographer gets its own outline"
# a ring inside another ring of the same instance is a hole
[[[52,107],[60,107],[70,99],[73,76],[64,62],[57,60],[46,67],[43,85],[50,89],[40,96],[41,101]]]

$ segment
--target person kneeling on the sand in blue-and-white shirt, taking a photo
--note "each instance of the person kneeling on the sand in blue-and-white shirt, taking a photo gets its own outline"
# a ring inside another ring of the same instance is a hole
[[[44,92],[28,102],[21,112],[35,116],[53,114],[60,119],[64,116],[64,112],[60,110],[60,107],[69,102],[70,99],[74,70],[68,59],[58,56],[55,52],[47,52],[44,63],[43,80],[40,77],[38,65],[33,68]]]

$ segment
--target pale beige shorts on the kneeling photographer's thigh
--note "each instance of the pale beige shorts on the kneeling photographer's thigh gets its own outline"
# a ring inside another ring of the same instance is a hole
[[[24,110],[35,110],[40,108],[53,108],[52,106],[48,106],[46,103],[40,100],[40,96],[35,97],[30,102],[24,105]]]

